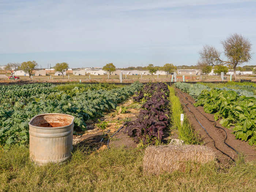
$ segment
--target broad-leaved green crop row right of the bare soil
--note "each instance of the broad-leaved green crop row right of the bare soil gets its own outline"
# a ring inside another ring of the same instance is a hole
[[[236,139],[248,140],[250,145],[256,144],[256,98],[240,95],[234,90],[209,87],[198,89],[201,91],[198,95],[192,94],[191,89],[197,85],[175,83],[176,87],[196,99],[195,106],[203,106],[206,113],[214,114],[216,121],[221,119],[224,127],[233,128]]]

